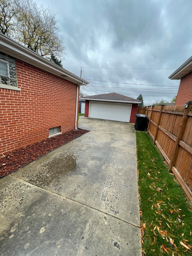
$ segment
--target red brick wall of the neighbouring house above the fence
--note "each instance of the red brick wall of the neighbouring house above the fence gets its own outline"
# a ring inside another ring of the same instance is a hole
[[[175,105],[184,105],[192,100],[192,72],[181,78]]]

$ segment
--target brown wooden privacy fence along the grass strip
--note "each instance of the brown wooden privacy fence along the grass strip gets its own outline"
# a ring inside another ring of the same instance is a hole
[[[148,133],[192,201],[192,101],[184,106],[138,107]]]

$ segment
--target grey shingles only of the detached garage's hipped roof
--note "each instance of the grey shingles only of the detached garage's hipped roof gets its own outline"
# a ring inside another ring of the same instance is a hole
[[[136,101],[140,103],[141,101],[138,101],[134,98],[127,97],[125,95],[112,92],[112,93],[106,93],[106,94],[98,94],[98,95],[91,95],[91,96],[86,96],[82,97],[83,99],[99,99],[99,100],[115,100],[115,101]]]

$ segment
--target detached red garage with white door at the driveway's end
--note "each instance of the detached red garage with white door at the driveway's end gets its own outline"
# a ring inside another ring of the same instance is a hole
[[[87,96],[81,100],[85,100],[85,117],[131,123],[135,122],[137,106],[141,103],[116,92]]]

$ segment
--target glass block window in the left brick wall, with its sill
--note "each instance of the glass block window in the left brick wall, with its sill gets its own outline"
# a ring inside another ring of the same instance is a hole
[[[15,59],[0,52],[0,84],[17,87]]]

